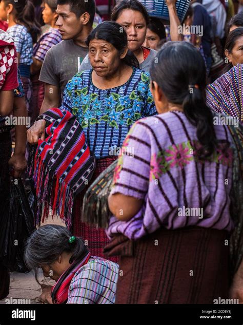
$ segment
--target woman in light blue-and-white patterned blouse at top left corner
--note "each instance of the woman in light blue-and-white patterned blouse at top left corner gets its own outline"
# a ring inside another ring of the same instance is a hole
[[[34,5],[30,0],[3,0],[0,4],[0,18],[8,22],[7,32],[14,40],[27,109],[31,116],[30,67],[33,63],[33,44],[40,33],[39,24],[35,20]]]

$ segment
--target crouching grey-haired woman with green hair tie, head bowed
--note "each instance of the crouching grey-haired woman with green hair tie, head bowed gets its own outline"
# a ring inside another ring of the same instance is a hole
[[[35,270],[36,280],[41,267],[45,277],[56,281],[46,292],[49,303],[115,302],[118,265],[91,256],[84,241],[63,226],[38,228],[28,239],[24,258],[29,269]]]

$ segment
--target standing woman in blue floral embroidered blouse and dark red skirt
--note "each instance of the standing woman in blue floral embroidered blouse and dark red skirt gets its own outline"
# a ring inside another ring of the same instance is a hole
[[[61,108],[75,114],[82,125],[97,158],[96,178],[117,158],[133,123],[152,116],[156,109],[149,74],[137,68],[135,56],[128,51],[127,34],[120,25],[98,25],[87,45],[93,69],[78,73],[69,81]],[[79,221],[83,197],[77,201],[74,233],[88,240],[93,255],[103,257],[106,234]]]

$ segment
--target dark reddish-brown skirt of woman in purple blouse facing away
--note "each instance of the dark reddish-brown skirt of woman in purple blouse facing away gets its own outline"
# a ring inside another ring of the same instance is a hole
[[[106,246],[120,255],[115,303],[213,303],[229,298],[229,233],[208,228],[160,229]]]

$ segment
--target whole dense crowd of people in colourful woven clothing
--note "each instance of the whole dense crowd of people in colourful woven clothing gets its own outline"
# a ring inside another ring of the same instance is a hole
[[[243,303],[243,2],[165,3],[1,1],[0,202],[35,192],[43,303]]]

